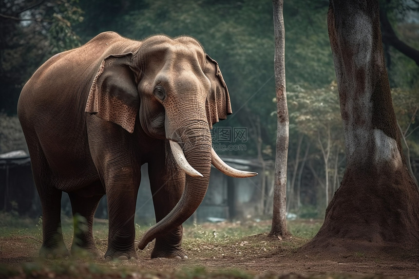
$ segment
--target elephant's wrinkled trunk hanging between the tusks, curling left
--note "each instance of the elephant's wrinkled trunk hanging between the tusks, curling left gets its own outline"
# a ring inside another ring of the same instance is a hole
[[[157,236],[166,234],[188,220],[207,192],[211,169],[211,136],[208,124],[206,128],[185,131],[181,139],[187,162],[202,174],[202,177],[186,175],[185,190],[179,202],[165,218],[145,232],[138,244],[141,250]]]

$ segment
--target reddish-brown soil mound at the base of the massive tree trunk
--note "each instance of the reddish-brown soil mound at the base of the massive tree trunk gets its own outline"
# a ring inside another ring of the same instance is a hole
[[[324,224],[301,251],[317,254],[419,252],[419,191],[407,171],[345,173]]]

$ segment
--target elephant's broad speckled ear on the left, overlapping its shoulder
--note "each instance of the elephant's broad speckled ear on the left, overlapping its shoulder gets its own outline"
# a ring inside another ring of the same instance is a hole
[[[135,77],[129,67],[132,55],[111,55],[103,59],[90,88],[85,110],[120,125],[130,133],[134,131],[140,106]]]

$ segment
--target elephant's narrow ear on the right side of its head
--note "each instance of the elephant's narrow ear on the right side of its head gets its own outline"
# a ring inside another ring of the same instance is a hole
[[[212,129],[212,124],[217,123],[220,119],[226,119],[227,115],[232,113],[230,96],[217,61],[211,59],[208,55],[206,55],[204,74],[210,79],[211,83],[205,107],[208,124]]]

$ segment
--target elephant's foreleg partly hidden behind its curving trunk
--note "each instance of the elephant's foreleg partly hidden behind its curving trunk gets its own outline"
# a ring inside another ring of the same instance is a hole
[[[164,150],[164,148],[162,148]],[[156,156],[157,157],[157,156]],[[150,185],[153,196],[156,222],[162,220],[177,204],[185,187],[185,173],[165,154],[160,159],[149,162]],[[182,250],[182,225],[157,237],[151,258],[187,258]]]

